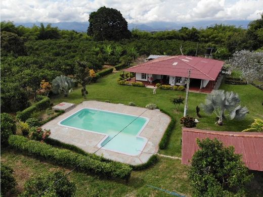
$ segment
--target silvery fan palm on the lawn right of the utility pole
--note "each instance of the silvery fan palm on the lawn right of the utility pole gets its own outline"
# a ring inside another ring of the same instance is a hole
[[[247,107],[239,105],[240,100],[237,93],[233,91],[225,92],[225,90],[214,90],[208,94],[205,99],[205,104],[201,104],[205,113],[211,115],[214,113],[218,121],[218,125],[223,125],[223,119],[227,116],[233,119],[242,119],[248,113]]]

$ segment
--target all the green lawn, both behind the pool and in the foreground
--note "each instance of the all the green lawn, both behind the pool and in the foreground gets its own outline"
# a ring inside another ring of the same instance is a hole
[[[174,95],[185,95],[184,91],[169,91],[157,89],[156,94],[152,94],[152,89],[144,87],[120,86],[117,85],[116,79],[119,73],[110,74],[87,86],[89,95],[87,100],[106,101],[112,103],[128,104],[135,102],[138,106],[145,107],[148,103],[155,103],[160,109],[169,112],[174,118],[176,128],[173,130],[168,147],[160,151],[161,154],[181,157],[181,135],[182,129],[179,124],[183,116],[184,106],[180,106],[179,112],[174,112],[174,106],[170,103],[169,98]],[[215,116],[206,116],[202,111],[202,118],[199,119],[197,128],[240,131],[247,128],[256,117],[263,118],[263,91],[252,85],[227,85],[221,86],[225,90],[238,92],[241,104],[246,105],[250,113],[243,121],[225,121],[224,126],[216,126]],[[189,115],[196,117],[195,107],[204,102],[206,94],[192,93],[189,94]],[[79,104],[85,101],[81,97],[80,88],[76,88],[68,97],[62,95],[52,96],[54,105],[60,102],[70,102]],[[64,172],[70,169],[61,168],[45,160],[34,159],[13,152],[7,148],[1,150],[2,162],[14,168],[15,178],[18,182],[18,193],[23,191],[24,182],[31,176],[54,171],[56,169]],[[170,191],[178,191],[191,195],[191,188],[187,178],[188,166],[182,165],[180,160],[169,158],[160,158],[154,166],[142,170],[133,171],[128,183],[122,181],[113,181],[108,179],[91,176],[89,174],[73,171],[69,178],[77,185],[76,196],[170,196],[162,191],[157,191],[146,186],[146,184],[161,187]],[[260,196],[263,193],[263,173],[255,172],[255,178],[247,186],[248,196]],[[99,195],[96,195],[99,194]]]

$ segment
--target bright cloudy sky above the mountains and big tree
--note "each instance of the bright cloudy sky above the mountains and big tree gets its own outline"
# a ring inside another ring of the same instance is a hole
[[[128,23],[255,20],[263,12],[263,0],[2,0],[1,21],[87,22],[102,6]]]

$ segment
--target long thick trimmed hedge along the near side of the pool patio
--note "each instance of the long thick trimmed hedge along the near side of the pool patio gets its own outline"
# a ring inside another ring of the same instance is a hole
[[[84,172],[91,172],[108,178],[119,178],[128,180],[132,168],[126,164],[101,162],[89,156],[63,150],[52,145],[35,140],[28,140],[23,136],[11,135],[9,145],[18,151],[29,155],[41,157],[62,166],[75,167]]]

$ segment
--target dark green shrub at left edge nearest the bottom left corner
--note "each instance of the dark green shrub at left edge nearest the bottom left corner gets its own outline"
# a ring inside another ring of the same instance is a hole
[[[1,196],[17,185],[13,169],[1,162]]]

